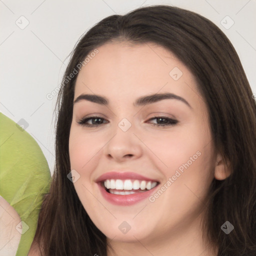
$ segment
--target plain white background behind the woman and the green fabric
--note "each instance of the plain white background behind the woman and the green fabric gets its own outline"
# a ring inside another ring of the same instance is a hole
[[[256,0],[0,0],[0,111],[15,122],[27,121],[26,131],[41,147],[51,173],[57,96],[49,100],[46,95],[61,82],[68,54],[102,18],[154,4],[192,10],[219,26],[256,92]],[[234,21],[229,29],[220,23],[226,15]],[[26,19],[29,24],[20,29],[16,23],[24,25]]]

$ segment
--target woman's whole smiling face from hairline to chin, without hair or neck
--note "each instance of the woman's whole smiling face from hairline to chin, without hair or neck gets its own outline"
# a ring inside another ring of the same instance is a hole
[[[77,76],[69,136],[82,205],[113,240],[153,243],[192,228],[215,164],[193,75],[152,43],[111,42],[97,50]]]

